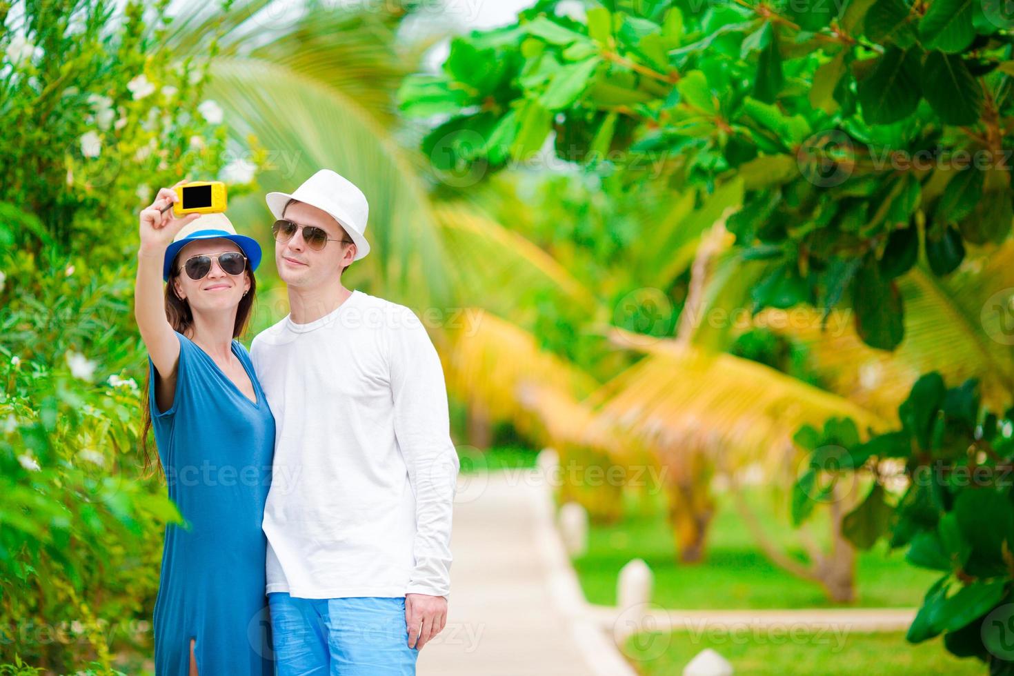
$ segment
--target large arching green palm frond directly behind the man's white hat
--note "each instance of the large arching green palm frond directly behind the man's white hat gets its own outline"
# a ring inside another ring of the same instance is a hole
[[[257,59],[218,59],[212,77],[235,140],[254,134],[275,160],[259,176],[264,192],[292,191],[321,167],[362,189],[370,203],[372,252],[349,269],[350,279],[416,308],[453,302],[425,186],[406,151],[353,97]],[[229,209],[267,230],[270,215],[260,195]]]

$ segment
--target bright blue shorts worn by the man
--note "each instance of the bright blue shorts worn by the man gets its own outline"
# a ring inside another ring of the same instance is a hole
[[[404,596],[268,602],[278,676],[415,676]]]

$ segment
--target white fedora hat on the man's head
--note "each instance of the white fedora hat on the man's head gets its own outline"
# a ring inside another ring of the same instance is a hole
[[[320,169],[303,181],[294,193],[268,193],[265,196],[268,209],[275,218],[283,218],[285,205],[289,200],[305,202],[311,207],[328,212],[356,242],[356,257],[359,260],[370,252],[370,243],[363,232],[370,206],[366,196],[351,180],[331,169]]]

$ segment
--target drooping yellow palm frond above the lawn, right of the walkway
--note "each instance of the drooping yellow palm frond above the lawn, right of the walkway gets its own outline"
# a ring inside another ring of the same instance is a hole
[[[615,329],[614,339],[636,341]],[[882,431],[882,418],[791,376],[725,353],[675,341],[642,345],[648,356],[589,397],[600,425],[614,425],[679,467],[703,453],[719,466],[784,459],[803,425],[852,418],[863,431]],[[603,429],[608,429],[604,427]]]

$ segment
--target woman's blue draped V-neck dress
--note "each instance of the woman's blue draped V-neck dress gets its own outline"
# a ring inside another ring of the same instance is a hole
[[[257,393],[250,401],[187,336],[179,340],[172,406],[150,406],[169,498],[186,524],[168,524],[153,616],[156,676],[187,676],[190,643],[201,676],[274,673],[261,529],[271,485],[275,419],[238,341]],[[189,526],[189,527],[188,527]]]

